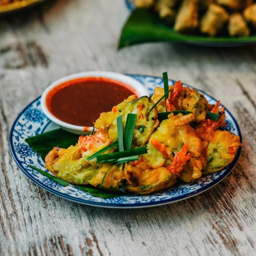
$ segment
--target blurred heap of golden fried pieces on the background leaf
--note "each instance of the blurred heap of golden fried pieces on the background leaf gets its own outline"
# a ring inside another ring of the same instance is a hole
[[[253,0],[134,1],[137,7],[153,9],[181,33],[245,37],[256,30],[256,4]]]

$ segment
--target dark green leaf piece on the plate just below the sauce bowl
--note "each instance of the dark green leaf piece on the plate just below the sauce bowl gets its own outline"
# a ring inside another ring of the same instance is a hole
[[[27,138],[25,141],[44,160],[54,147],[68,148],[70,145],[76,145],[78,138],[79,135],[57,129]]]

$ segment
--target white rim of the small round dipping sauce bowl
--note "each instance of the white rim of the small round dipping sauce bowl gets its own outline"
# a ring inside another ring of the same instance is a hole
[[[49,93],[49,91],[51,91],[54,87],[58,86],[61,83],[67,82],[67,81],[71,81],[77,78],[86,78],[86,77],[102,77],[102,78],[110,78],[116,81],[120,81],[123,82],[129,86],[131,86],[133,89],[135,89],[135,91],[137,92],[138,96],[149,96],[149,92],[146,89],[146,87],[139,82],[138,80],[121,74],[121,73],[116,73],[116,72],[109,72],[109,71],[85,71],[85,72],[80,72],[80,73],[75,73],[75,74],[71,74],[68,76],[64,76],[54,82],[52,82],[49,86],[46,87],[46,89],[44,90],[44,92],[42,93],[41,96],[41,107],[42,110],[44,112],[44,114],[54,123],[56,123],[57,125],[68,129],[70,132],[73,131],[78,131],[78,132],[92,132],[93,131],[93,126],[79,126],[79,125],[74,125],[74,124],[69,124],[66,123],[60,119],[58,119],[56,116],[54,116],[49,109],[46,106],[46,97]],[[86,127],[86,130],[85,130]]]

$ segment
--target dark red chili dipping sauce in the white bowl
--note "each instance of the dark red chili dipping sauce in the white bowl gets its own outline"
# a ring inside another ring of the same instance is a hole
[[[93,126],[100,113],[110,111],[132,94],[138,96],[133,87],[120,81],[85,77],[54,87],[46,96],[46,106],[66,123]]]

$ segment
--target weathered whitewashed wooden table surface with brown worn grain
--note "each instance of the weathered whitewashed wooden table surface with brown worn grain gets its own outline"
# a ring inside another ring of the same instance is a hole
[[[152,43],[117,50],[123,0],[49,1],[0,18],[0,255],[256,255],[256,47]],[[243,148],[232,173],[193,198],[104,209],[52,195],[19,170],[19,112],[68,74],[107,70],[181,79],[221,100]]]

